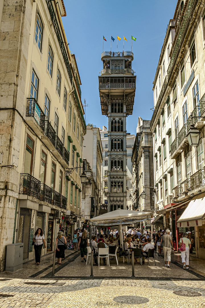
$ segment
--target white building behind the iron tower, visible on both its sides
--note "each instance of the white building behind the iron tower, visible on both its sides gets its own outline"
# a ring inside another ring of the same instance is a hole
[[[108,204],[108,129],[103,126],[100,129],[101,135],[101,142],[103,147],[103,162],[101,164],[101,204],[107,205]],[[132,202],[132,149],[135,142],[135,135],[126,134],[126,172],[127,172],[127,183],[126,183],[126,190],[127,190],[127,203],[129,209],[133,209],[133,202]],[[131,198],[130,198],[131,195]]]

